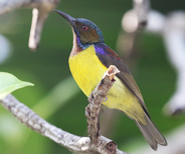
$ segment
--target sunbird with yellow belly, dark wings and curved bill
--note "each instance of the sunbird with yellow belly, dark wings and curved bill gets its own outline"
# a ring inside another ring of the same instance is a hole
[[[84,18],[54,10],[65,18],[72,27],[73,47],[69,56],[71,74],[83,93],[89,97],[101,81],[110,65],[119,69],[115,83],[102,104],[117,109],[134,120],[152,149],[158,144],[166,146],[167,141],[152,122],[142,94],[119,55],[104,43],[102,31],[96,24]]]

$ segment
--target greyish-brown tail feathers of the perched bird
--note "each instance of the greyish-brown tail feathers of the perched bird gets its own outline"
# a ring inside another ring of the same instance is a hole
[[[157,129],[157,127],[154,125],[154,123],[151,121],[147,114],[145,114],[145,121],[146,124],[143,124],[142,122],[139,121],[136,121],[136,124],[141,130],[141,133],[143,134],[146,141],[152,147],[152,149],[156,151],[157,144],[166,146],[167,145],[166,139],[159,132],[159,130]]]

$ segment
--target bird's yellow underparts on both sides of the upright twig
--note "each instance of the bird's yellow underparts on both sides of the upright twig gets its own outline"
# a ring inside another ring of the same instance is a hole
[[[101,81],[106,72],[105,67],[96,56],[94,46],[69,58],[69,67],[73,78],[88,97]],[[138,99],[125,87],[119,78],[110,89],[107,100],[103,105],[118,109],[127,114],[130,118],[144,122],[144,112]]]

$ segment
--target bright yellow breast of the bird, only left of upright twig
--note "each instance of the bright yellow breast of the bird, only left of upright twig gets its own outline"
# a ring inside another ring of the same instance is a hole
[[[76,83],[87,97],[95,89],[107,70],[97,58],[93,45],[70,57],[69,67]]]

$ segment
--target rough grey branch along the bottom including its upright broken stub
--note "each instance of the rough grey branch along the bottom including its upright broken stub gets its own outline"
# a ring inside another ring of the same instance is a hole
[[[101,136],[99,133],[98,117],[101,102],[105,99],[107,92],[113,85],[115,81],[114,75],[118,72],[114,66],[111,66],[89,97],[90,104],[86,108],[86,116],[89,124],[88,132],[90,137],[79,137],[51,125],[23,103],[20,103],[11,94],[0,100],[0,103],[24,125],[66,147],[70,151],[86,154],[126,154],[117,149],[115,142]]]

